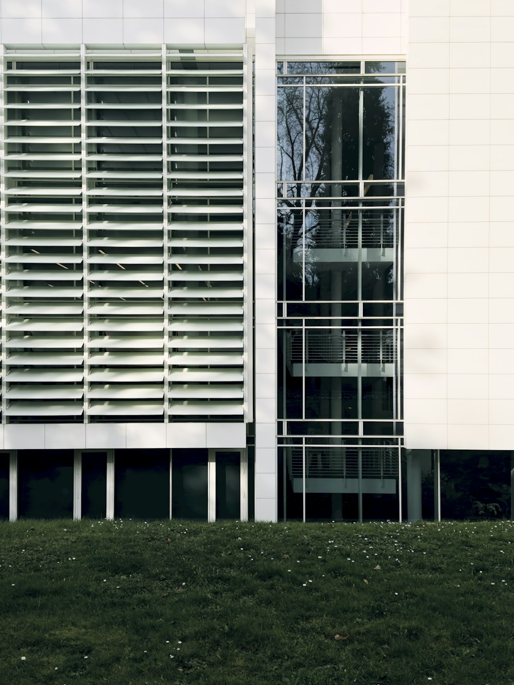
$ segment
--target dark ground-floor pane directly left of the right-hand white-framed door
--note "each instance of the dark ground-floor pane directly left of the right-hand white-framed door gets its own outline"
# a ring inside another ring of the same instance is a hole
[[[174,519],[207,519],[208,451],[173,449]]]

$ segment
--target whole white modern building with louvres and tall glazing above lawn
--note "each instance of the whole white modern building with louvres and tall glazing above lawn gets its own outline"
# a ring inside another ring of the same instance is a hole
[[[1,0],[0,516],[510,515],[513,35]]]

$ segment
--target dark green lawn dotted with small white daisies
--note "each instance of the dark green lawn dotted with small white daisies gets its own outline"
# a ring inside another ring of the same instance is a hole
[[[513,684],[513,533],[3,523],[0,683]]]

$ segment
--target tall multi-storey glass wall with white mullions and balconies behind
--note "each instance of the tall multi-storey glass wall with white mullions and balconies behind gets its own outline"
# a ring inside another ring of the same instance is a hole
[[[404,63],[277,78],[282,516],[397,518]]]

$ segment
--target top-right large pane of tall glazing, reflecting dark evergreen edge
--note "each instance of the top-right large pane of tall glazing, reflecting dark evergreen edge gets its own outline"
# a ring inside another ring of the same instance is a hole
[[[364,88],[363,178],[394,178],[397,88]]]

